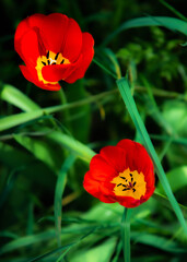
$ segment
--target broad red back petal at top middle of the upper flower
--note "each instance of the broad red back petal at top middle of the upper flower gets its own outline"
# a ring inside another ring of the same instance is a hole
[[[39,34],[46,50],[55,53],[61,51],[66,39],[69,19],[65,14],[52,13],[46,15],[39,26]]]

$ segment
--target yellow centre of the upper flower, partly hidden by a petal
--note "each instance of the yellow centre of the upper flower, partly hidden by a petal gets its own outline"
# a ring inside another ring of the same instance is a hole
[[[38,57],[35,69],[37,70],[38,80],[42,81],[44,84],[57,84],[58,82],[48,82],[44,80],[42,74],[42,69],[45,66],[52,66],[52,64],[69,64],[69,59],[62,57],[61,52],[52,52],[47,51],[46,56]]]

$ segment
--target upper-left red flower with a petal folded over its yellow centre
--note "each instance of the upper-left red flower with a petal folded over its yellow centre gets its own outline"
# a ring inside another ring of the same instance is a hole
[[[60,90],[58,81],[73,83],[84,76],[94,56],[91,34],[82,33],[73,19],[60,13],[34,14],[15,32],[14,47],[25,66],[26,80],[38,87]]]

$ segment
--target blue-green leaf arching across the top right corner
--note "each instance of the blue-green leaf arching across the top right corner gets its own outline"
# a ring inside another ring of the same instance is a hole
[[[102,46],[106,46],[116,35],[129,28],[141,26],[164,26],[171,31],[176,31],[187,35],[187,23],[183,20],[167,17],[167,16],[149,16],[129,20],[120,25],[103,41]]]

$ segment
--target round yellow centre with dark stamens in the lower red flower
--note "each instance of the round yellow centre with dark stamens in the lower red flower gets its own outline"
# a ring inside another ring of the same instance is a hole
[[[139,200],[147,191],[144,175],[137,170],[130,171],[129,168],[124,172],[119,172],[110,182],[116,183],[114,193],[120,196],[131,196]]]

